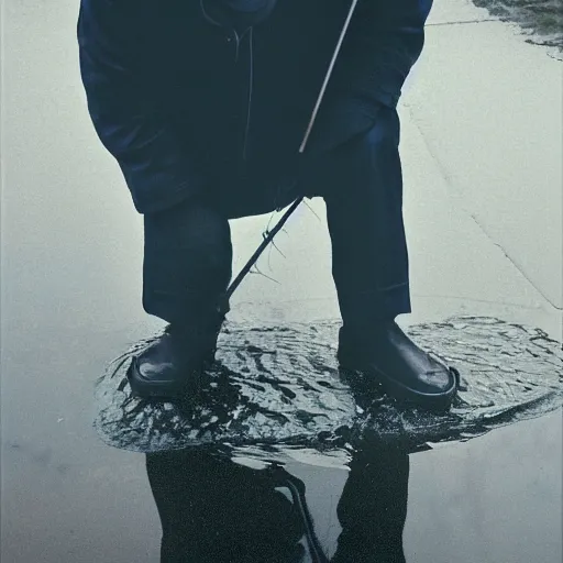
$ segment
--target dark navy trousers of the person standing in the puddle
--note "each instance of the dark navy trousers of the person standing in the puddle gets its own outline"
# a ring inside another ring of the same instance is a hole
[[[344,324],[410,312],[399,135],[396,110],[382,107],[372,129],[308,163],[291,190],[264,189],[250,163],[250,172],[233,175],[223,191],[145,214],[145,311],[168,322],[205,316],[232,274],[228,220],[273,211],[306,195],[327,203]]]

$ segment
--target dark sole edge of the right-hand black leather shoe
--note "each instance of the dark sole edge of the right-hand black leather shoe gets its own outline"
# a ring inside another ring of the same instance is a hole
[[[374,367],[368,369],[362,369],[357,367],[349,367],[343,363],[340,363],[341,368],[350,372],[360,372],[364,375],[375,378],[382,389],[397,402],[410,405],[424,410],[449,410],[452,406],[453,399],[457,394],[460,386],[460,372],[455,367],[448,367],[450,375],[452,376],[452,385],[442,393],[421,393],[407,385],[397,382],[389,377],[384,372],[380,372]]]

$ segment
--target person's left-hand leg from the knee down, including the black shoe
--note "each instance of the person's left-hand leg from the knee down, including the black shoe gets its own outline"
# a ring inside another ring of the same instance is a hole
[[[213,358],[231,278],[230,228],[211,206],[192,200],[145,214],[144,227],[143,306],[169,325],[128,375],[140,396],[175,398]]]

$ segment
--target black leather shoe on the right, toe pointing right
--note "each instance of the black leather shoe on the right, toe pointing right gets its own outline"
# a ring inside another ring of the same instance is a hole
[[[362,372],[395,399],[430,410],[450,408],[460,374],[420,350],[395,321],[365,331],[340,330],[341,367]]]

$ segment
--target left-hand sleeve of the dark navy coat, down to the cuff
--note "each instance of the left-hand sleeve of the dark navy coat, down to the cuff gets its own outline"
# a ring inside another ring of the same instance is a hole
[[[205,179],[143,88],[143,62],[135,45],[147,37],[135,3],[81,0],[77,32],[93,126],[121,167],[135,208],[145,213],[181,201]]]

